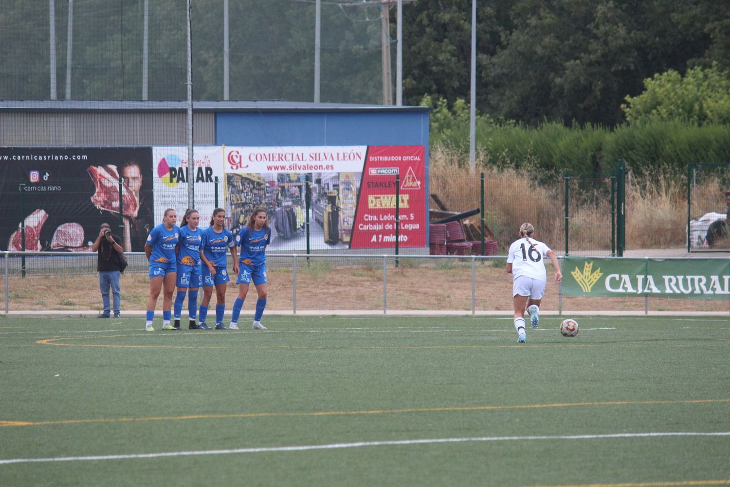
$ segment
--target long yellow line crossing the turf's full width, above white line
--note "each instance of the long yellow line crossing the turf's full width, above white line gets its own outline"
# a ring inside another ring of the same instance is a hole
[[[512,406],[450,406],[450,407],[412,407],[392,410],[362,410],[362,411],[315,411],[310,413],[230,413],[230,414],[196,414],[183,416],[148,416],[143,418],[96,418],[96,419],[69,419],[60,421],[0,421],[2,426],[45,426],[51,424],[74,423],[118,423],[125,421],[181,421],[191,419],[226,419],[226,418],[283,418],[292,416],[341,416],[341,415],[372,415],[396,413],[445,413],[456,411],[496,411],[538,409],[545,407],[578,407],[578,406],[631,406],[645,404],[707,404],[713,402],[730,402],[730,399],[688,399],[683,401],[602,401],[602,402],[563,402],[553,404],[516,404]]]

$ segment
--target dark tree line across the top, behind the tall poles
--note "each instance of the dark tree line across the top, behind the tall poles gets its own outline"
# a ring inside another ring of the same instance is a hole
[[[323,1],[321,101],[382,102],[383,9],[362,3]],[[48,99],[48,3],[3,4],[0,99]],[[68,67],[72,99],[141,99],[143,4],[74,2],[69,64],[69,3],[55,0],[58,99]],[[388,15],[394,65],[395,7]],[[192,0],[191,16],[193,98],[223,99],[223,1]],[[185,2],[151,1],[149,19],[149,99],[183,100]],[[229,19],[231,99],[312,101],[314,2],[231,1]],[[404,104],[469,99],[471,2],[407,2],[403,33]],[[477,1],[477,109],[495,120],[613,127],[645,80],[729,68],[726,0]]]

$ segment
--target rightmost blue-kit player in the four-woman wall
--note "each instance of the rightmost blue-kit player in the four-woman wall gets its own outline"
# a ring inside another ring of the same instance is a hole
[[[236,279],[238,284],[238,297],[233,304],[231,312],[230,328],[237,330],[238,317],[243,307],[243,302],[248,293],[248,286],[253,280],[256,286],[258,301],[256,311],[253,315],[253,329],[265,330],[266,326],[261,324],[261,316],[264,315],[266,307],[266,245],[271,242],[271,229],[266,224],[266,210],[258,207],[251,213],[248,223],[239,231],[236,236],[236,245],[241,248],[239,261],[241,270]]]

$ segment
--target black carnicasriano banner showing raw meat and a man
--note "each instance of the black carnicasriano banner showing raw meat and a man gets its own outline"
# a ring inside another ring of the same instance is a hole
[[[106,222],[124,250],[142,251],[154,227],[152,148],[0,147],[0,208],[1,250],[88,252]]]

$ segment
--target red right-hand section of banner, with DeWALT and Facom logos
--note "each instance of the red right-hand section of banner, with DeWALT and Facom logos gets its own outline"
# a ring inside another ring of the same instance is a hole
[[[392,248],[396,243],[399,176],[399,247],[426,246],[426,164],[423,145],[369,146],[360,183],[350,248]]]

